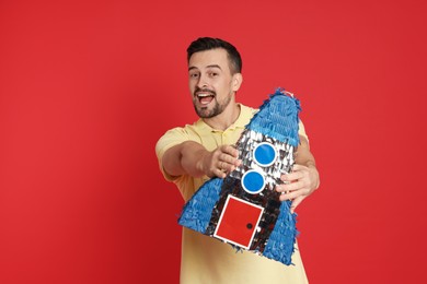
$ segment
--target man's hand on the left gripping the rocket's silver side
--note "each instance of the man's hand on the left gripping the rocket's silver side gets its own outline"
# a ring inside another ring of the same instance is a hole
[[[231,145],[221,145],[208,152],[201,159],[203,171],[208,177],[224,178],[229,173],[233,171],[241,163],[238,159],[239,151]]]

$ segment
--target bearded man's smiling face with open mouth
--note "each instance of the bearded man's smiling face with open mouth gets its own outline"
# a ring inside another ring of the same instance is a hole
[[[215,117],[226,109],[239,88],[233,84],[235,75],[231,75],[226,49],[205,50],[189,58],[189,92],[200,118]]]

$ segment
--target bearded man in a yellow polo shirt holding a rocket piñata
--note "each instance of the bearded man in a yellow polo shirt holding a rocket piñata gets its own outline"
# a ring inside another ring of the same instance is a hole
[[[173,181],[185,201],[209,178],[224,178],[241,163],[238,141],[256,109],[235,102],[242,84],[242,60],[231,44],[198,38],[187,49],[188,84],[199,120],[169,130],[155,152],[166,180]],[[292,173],[284,175],[281,200],[292,210],[319,187],[308,139],[300,123],[300,145]],[[230,245],[183,228],[181,283],[308,283],[298,248],[295,265],[286,267],[255,253],[236,252]]]

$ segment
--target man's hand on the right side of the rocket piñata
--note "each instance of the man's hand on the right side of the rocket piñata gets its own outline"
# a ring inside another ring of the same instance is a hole
[[[290,212],[293,213],[295,209],[308,196],[313,193],[319,188],[319,173],[315,166],[302,166],[293,165],[291,173],[282,175],[280,177],[285,184],[276,186],[276,191],[282,192],[280,201],[292,200]]]

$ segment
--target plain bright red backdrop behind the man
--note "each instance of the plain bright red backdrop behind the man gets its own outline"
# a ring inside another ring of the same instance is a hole
[[[426,2],[259,3],[0,2],[0,283],[177,282],[183,201],[154,144],[196,119],[198,36],[241,50],[239,102],[301,99],[311,283],[426,281]]]

